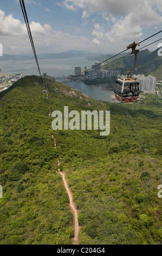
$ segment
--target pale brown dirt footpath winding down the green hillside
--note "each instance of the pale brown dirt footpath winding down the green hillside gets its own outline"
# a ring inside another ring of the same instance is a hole
[[[49,114],[50,116],[50,114]],[[57,153],[57,147],[56,147],[56,139],[54,138],[54,136],[52,135],[53,139],[54,139],[54,142],[55,142],[55,149],[56,149],[56,153]],[[60,166],[60,161],[59,161],[59,158],[58,158],[58,155],[56,154],[57,156],[57,166],[59,167]],[[66,179],[66,176],[63,172],[61,172],[61,170],[58,168],[57,169],[58,172],[60,173],[60,175],[62,176],[62,181],[63,181],[63,185],[64,187],[66,188],[66,192],[68,193],[68,196],[69,196],[69,205],[70,205],[70,209],[73,213],[73,229],[74,229],[74,239],[73,239],[73,245],[79,245],[79,232],[80,232],[80,226],[79,226],[79,222],[78,222],[78,211],[76,209],[76,204],[74,202],[74,197],[73,197],[73,193],[72,191],[70,190],[70,187],[68,185],[68,181]]]

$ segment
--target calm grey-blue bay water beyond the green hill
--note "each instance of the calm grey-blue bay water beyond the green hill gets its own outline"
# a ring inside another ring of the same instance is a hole
[[[91,68],[95,63],[94,60],[86,58],[66,58],[66,59],[38,59],[41,74],[47,73],[51,77],[62,77],[72,75],[75,66],[81,66],[84,70]],[[9,74],[16,74],[18,72],[25,73],[26,75],[38,76],[38,70],[35,60],[18,60],[18,61],[0,61],[0,69],[2,72]],[[63,82],[64,80],[57,80]],[[116,102],[114,92],[106,90],[101,86],[88,86],[83,82],[64,82],[80,92],[87,94],[95,100]]]

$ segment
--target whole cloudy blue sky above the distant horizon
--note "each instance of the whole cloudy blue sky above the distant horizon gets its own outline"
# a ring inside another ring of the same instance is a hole
[[[37,53],[118,53],[161,30],[161,0],[24,0]],[[3,53],[32,53],[19,0],[1,0]],[[162,34],[162,33],[161,33]],[[161,34],[141,44],[160,39]],[[161,41],[160,41],[161,42]],[[147,47],[155,50],[158,43]]]

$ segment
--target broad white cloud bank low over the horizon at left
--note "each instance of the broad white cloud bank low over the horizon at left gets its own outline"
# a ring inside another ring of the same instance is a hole
[[[24,23],[15,19],[12,14],[5,15],[2,10],[0,10],[0,23],[1,43],[4,53],[13,54],[14,51],[14,54],[20,52],[32,54],[27,28]],[[77,31],[80,29],[75,26],[73,28]],[[77,50],[86,48],[89,51],[95,51],[95,44],[98,44],[98,41],[94,41],[94,44],[92,44],[92,39],[84,36],[73,36],[63,31],[56,31],[47,23],[42,26],[40,23],[33,21],[30,23],[30,29],[37,54],[48,51],[49,53],[67,51],[72,48]]]

